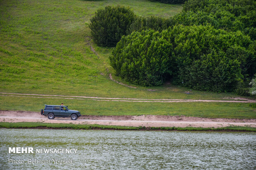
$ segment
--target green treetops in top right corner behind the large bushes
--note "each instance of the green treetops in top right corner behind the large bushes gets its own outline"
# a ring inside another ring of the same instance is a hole
[[[241,30],[255,40],[255,9],[254,0],[188,0],[173,20],[185,26],[210,24],[217,29]]]

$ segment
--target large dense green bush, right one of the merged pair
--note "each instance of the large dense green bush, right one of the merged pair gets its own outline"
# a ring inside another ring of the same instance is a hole
[[[252,41],[239,31],[179,25],[164,30],[162,36],[172,44],[176,58],[173,82],[198,90],[234,90],[253,55]]]

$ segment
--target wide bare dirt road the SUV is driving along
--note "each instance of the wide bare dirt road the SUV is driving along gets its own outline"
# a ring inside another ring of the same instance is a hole
[[[218,128],[226,126],[256,127],[256,119],[211,119],[186,116],[142,115],[142,116],[95,116],[82,115],[76,121],[70,118],[49,120],[40,112],[0,111],[0,122],[42,122],[42,123],[73,123],[100,124],[116,126],[145,127],[202,127]]]

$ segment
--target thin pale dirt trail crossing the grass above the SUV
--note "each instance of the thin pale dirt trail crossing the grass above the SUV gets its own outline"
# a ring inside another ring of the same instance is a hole
[[[23,93],[1,93],[0,96],[13,96],[24,98],[63,98],[76,100],[97,100],[97,101],[115,101],[115,102],[242,102],[256,103],[256,100],[246,98],[223,98],[224,100],[194,100],[194,99],[141,99],[141,98],[100,98],[88,96],[72,95],[45,95],[45,94],[23,94]]]

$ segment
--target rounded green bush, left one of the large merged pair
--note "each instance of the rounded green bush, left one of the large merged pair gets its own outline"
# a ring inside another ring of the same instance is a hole
[[[142,86],[160,85],[171,67],[171,44],[158,31],[133,32],[122,37],[109,57],[116,75]]]

